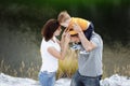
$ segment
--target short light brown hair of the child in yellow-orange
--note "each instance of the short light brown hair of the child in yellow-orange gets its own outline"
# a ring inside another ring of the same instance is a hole
[[[69,14],[67,13],[67,11],[62,11],[58,16],[57,16],[57,20],[58,23],[63,23],[66,19],[70,18]]]

